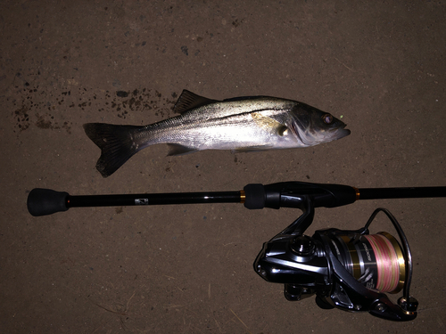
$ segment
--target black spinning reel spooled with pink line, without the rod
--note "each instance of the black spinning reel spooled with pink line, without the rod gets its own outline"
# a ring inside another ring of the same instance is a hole
[[[303,232],[312,222],[314,208],[311,200],[304,202],[303,215],[264,243],[254,270],[266,281],[284,283],[290,301],[316,295],[316,303],[325,309],[366,311],[393,321],[415,319],[417,300],[409,296],[409,244],[392,214],[379,208],[359,230],[326,229],[310,237]],[[390,233],[369,234],[368,225],[380,211],[390,215],[402,247]],[[401,289],[404,294],[398,304],[385,294]]]

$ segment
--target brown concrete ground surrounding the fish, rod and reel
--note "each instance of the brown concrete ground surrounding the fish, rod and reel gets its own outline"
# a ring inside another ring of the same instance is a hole
[[[356,229],[376,207],[413,251],[412,322],[291,303],[252,269],[300,211],[237,204],[72,208],[33,217],[36,187],[72,195],[236,191],[247,183],[446,185],[440,1],[4,1],[0,4],[2,333],[443,333],[445,199],[318,209]],[[351,135],[234,155],[138,153],[111,177],[86,122],[173,116],[183,89],[268,94],[342,117]],[[117,92],[128,92],[120,97]],[[132,100],[133,98],[133,100]],[[384,217],[372,232],[394,233]]]

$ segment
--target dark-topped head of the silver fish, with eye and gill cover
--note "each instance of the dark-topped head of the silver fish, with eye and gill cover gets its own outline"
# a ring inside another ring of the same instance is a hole
[[[309,105],[301,103],[292,114],[293,133],[304,146],[332,142],[351,134],[342,120]]]

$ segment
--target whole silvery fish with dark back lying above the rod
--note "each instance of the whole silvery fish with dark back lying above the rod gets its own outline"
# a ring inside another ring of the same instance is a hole
[[[266,151],[318,145],[351,134],[331,114],[303,102],[270,96],[212,100],[184,90],[178,116],[147,126],[84,124],[101,149],[96,169],[108,177],[136,152],[169,145],[168,156],[203,150]]]

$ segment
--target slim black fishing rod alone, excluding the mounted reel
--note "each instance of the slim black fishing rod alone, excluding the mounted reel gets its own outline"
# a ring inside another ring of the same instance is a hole
[[[65,191],[36,188],[29,192],[32,216],[52,215],[69,208],[125,207],[167,204],[243,203],[245,208],[301,208],[303,196],[314,208],[335,208],[356,200],[446,197],[446,187],[355,188],[342,184],[284,182],[251,183],[242,191],[171,192],[72,196]]]

